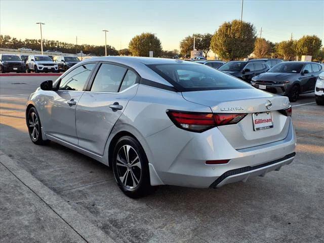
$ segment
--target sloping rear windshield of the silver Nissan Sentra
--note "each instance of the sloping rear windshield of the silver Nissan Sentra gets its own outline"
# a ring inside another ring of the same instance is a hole
[[[147,65],[179,91],[253,89],[233,76],[192,63]]]

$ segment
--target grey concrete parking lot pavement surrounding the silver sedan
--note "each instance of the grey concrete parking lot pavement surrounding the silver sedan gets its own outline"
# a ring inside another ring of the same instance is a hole
[[[246,183],[160,186],[135,200],[96,160],[30,141],[25,103],[48,79],[0,76],[0,242],[324,242],[324,107],[314,94],[292,103],[292,164]]]

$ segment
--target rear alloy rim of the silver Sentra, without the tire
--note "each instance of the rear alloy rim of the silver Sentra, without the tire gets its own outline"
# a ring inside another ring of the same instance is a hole
[[[124,145],[118,150],[116,171],[119,180],[126,188],[135,189],[138,186],[142,177],[142,166],[132,146]]]

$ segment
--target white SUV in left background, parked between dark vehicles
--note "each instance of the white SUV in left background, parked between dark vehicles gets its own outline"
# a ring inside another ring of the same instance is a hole
[[[56,62],[53,62],[49,56],[30,55],[26,61],[26,71],[34,72],[59,72]]]

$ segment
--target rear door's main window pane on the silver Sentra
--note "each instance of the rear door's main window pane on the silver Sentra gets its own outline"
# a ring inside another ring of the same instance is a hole
[[[93,81],[91,91],[118,92],[121,80],[127,69],[125,67],[103,63]]]

